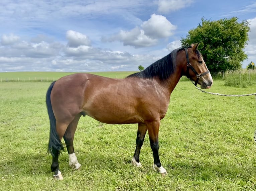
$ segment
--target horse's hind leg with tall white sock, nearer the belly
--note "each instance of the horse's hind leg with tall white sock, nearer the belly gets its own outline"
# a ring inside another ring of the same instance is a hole
[[[81,117],[81,113],[79,113],[73,121],[69,124],[63,138],[66,143],[66,147],[69,153],[69,165],[75,169],[79,169],[81,167],[81,164],[78,162],[77,157],[75,155],[73,141],[74,141],[74,135],[75,131],[77,129],[78,121]]]

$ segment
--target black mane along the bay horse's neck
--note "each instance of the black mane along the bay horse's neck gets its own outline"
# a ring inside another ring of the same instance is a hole
[[[187,47],[191,48],[191,47]],[[175,49],[167,56],[161,58],[160,60],[154,62],[148,66],[145,70],[137,72],[127,76],[126,78],[147,78],[153,79],[153,77],[158,77],[160,81],[164,81],[170,77],[176,70],[176,56],[179,51],[184,50],[185,48]],[[198,57],[202,57],[201,53],[196,50]]]

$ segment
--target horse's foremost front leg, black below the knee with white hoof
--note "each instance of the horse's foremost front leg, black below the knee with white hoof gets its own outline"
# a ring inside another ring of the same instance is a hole
[[[155,171],[160,172],[163,176],[167,174],[164,167],[162,167],[158,150],[159,150],[159,144],[158,144],[158,131],[160,126],[160,120],[158,121],[152,121],[146,124],[148,129],[148,136],[150,141],[150,147],[153,151],[153,158],[154,158],[154,164],[153,169]]]

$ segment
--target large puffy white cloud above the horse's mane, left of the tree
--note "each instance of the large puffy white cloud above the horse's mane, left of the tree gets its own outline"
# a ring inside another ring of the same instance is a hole
[[[152,14],[140,27],[137,26],[130,31],[121,30],[110,38],[103,38],[103,41],[120,41],[124,46],[130,45],[135,48],[150,47],[156,45],[159,39],[171,36],[175,29],[176,26],[166,17]]]

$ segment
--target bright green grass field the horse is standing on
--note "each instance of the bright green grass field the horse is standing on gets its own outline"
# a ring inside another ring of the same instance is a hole
[[[60,155],[63,181],[54,181],[46,154],[49,121],[45,93],[50,82],[0,84],[0,190],[256,190],[255,96],[200,93],[188,81],[173,91],[161,120],[159,156],[168,175],[152,169],[146,135],[142,168],[130,164],[136,124],[109,125],[80,119],[74,145],[80,170]],[[215,81],[220,94],[255,93]]]

